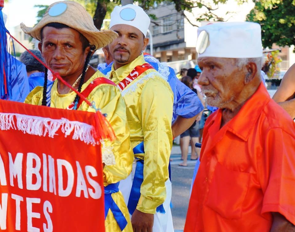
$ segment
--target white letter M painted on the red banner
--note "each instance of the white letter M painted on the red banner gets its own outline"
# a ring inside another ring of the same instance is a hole
[[[17,153],[14,159],[12,160],[11,153],[8,153],[9,156],[9,176],[10,176],[10,186],[14,186],[13,178],[18,178],[18,188],[23,188],[22,186],[22,157],[23,153]]]

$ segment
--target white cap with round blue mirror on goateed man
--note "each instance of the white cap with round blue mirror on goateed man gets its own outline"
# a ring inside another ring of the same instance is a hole
[[[150,17],[140,6],[128,4],[125,6],[115,6],[111,13],[110,29],[114,25],[126,24],[136,27],[144,36],[147,36],[150,23]]]

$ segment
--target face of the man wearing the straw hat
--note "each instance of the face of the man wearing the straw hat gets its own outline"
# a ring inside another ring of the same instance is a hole
[[[89,47],[83,51],[79,32],[72,28],[45,26],[42,35],[39,50],[49,68],[61,77],[81,73]]]

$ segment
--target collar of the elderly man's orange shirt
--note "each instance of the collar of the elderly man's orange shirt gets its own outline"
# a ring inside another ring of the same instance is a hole
[[[262,113],[264,106],[269,101],[270,96],[264,84],[260,83],[256,92],[250,97],[250,99],[246,101],[246,103],[242,106],[238,114],[234,116],[234,118],[232,118],[226,125],[224,125],[224,127],[226,127],[226,130],[230,131],[231,133],[234,133],[242,140],[247,141],[251,130],[253,129],[255,123],[257,122],[259,116]],[[222,118],[221,114],[222,109],[219,109],[218,112],[216,112],[216,114],[213,116],[211,124],[211,126],[219,125],[219,130]]]

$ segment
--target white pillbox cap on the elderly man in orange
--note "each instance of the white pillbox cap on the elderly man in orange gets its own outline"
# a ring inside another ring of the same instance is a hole
[[[199,27],[196,50],[198,57],[261,57],[261,27],[253,22],[220,22]]]

